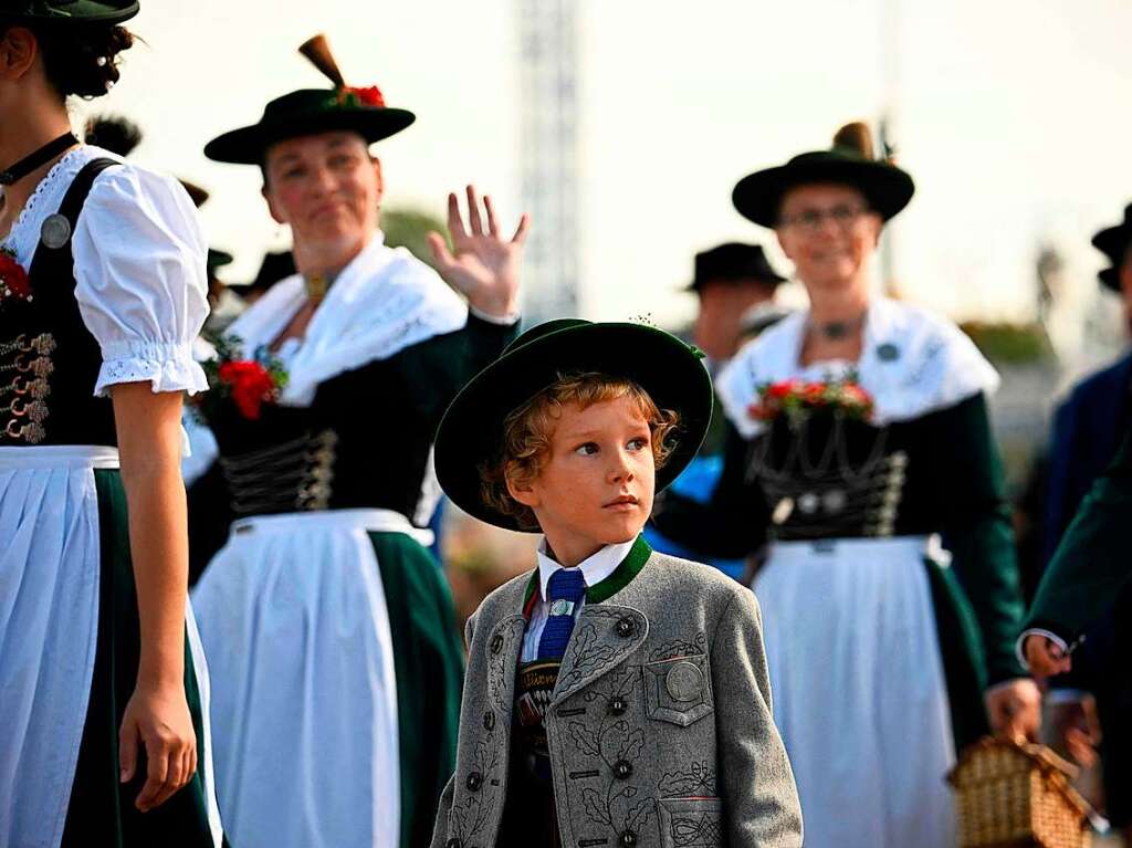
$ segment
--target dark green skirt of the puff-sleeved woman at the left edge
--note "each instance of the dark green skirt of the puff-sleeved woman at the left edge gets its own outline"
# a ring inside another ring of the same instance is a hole
[[[203,769],[200,691],[186,635],[185,693],[197,734],[197,773],[160,807],[140,813],[134,800],[146,779],[144,748],[135,778],[119,782],[118,731],[137,678],[140,645],[138,605],[130,562],[126,492],[115,470],[96,470],[102,536],[98,636],[91,700],[71,787],[63,848],[213,848],[208,822],[212,788]]]

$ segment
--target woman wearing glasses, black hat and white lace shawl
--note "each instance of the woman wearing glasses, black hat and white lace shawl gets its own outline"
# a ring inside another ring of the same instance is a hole
[[[754,583],[806,845],[954,843],[944,776],[988,728],[1032,731],[1013,654],[1022,613],[986,395],[994,369],[951,323],[873,293],[881,231],[911,177],[867,127],[735,188],[809,309],[718,382],[730,423],[705,508],[658,525],[719,556],[766,545]]]

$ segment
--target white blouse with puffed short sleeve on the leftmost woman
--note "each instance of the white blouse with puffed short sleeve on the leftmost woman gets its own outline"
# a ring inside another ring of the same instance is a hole
[[[0,247],[31,271],[43,221],[59,211],[78,172],[108,151],[82,146],[43,178]],[[171,177],[132,163],[95,179],[75,233],[75,298],[102,349],[96,395],[118,383],[154,392],[208,387],[192,341],[208,317],[207,243],[188,194]]]

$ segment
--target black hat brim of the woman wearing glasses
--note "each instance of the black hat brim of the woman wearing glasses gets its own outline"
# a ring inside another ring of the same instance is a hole
[[[745,219],[773,229],[786,192],[817,182],[856,188],[884,221],[903,209],[916,192],[911,175],[894,165],[831,159],[792,162],[747,174],[736,183],[731,202]]]

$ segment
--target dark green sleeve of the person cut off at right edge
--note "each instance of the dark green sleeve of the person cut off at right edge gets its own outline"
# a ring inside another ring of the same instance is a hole
[[[1104,615],[1132,576],[1130,520],[1132,431],[1065,531],[1023,629],[1040,627],[1072,643]]]

